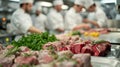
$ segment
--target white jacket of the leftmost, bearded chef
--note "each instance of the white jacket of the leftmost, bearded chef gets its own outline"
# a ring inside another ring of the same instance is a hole
[[[11,32],[15,34],[27,33],[28,29],[32,26],[30,15],[21,8],[17,9],[12,15],[11,26]]]

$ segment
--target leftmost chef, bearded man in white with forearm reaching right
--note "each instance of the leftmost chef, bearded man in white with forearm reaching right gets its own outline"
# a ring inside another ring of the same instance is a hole
[[[41,33],[41,31],[32,24],[32,20],[29,15],[32,6],[33,0],[20,0],[20,8],[13,13],[11,18],[12,33]]]

